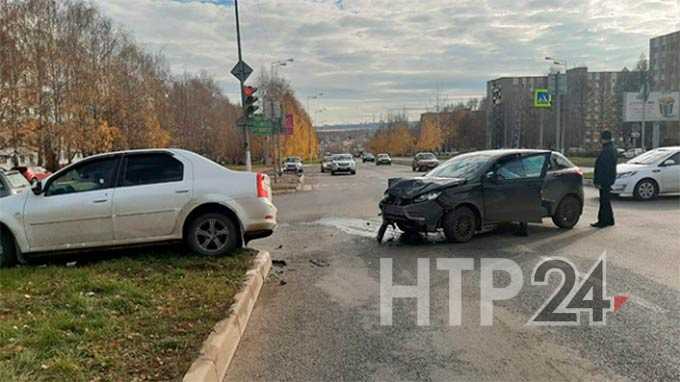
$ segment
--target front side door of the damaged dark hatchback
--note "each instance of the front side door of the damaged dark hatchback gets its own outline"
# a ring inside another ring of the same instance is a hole
[[[483,182],[488,222],[540,221],[549,153],[511,155],[498,160]]]

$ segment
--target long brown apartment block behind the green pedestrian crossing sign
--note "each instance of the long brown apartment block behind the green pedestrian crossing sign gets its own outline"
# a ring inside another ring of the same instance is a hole
[[[560,92],[560,146],[567,150],[595,150],[600,132],[605,129],[615,132],[619,143],[628,145],[630,126],[622,120],[623,93],[639,90],[639,72],[589,72],[586,67],[577,67],[560,76],[564,76],[559,82],[565,91]],[[554,78],[554,74],[501,77],[487,83],[489,100],[493,99],[494,89],[501,93],[500,103],[488,109],[491,147],[557,146],[556,99],[551,109],[533,106],[534,89],[551,88]]]

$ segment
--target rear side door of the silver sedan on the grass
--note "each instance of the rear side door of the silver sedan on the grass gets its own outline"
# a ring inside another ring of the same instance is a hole
[[[192,193],[193,171],[187,159],[170,152],[126,155],[113,202],[116,240],[173,235]]]

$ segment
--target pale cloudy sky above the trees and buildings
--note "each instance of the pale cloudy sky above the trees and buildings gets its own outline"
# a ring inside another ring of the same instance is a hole
[[[206,71],[236,99],[233,0],[92,1],[173,71]],[[680,0],[241,0],[239,11],[254,76],[294,58],[278,73],[303,102],[323,93],[317,123],[480,97],[491,78],[547,72],[545,56],[632,67],[650,37],[680,30]]]

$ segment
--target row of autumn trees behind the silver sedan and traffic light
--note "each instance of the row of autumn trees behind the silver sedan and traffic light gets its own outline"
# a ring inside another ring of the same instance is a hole
[[[282,94],[283,97],[284,94]],[[290,88],[291,155],[314,158],[318,140]],[[241,108],[206,74],[174,75],[85,0],[0,0],[0,149],[60,159],[177,146],[218,162],[243,160]],[[253,159],[267,154],[254,138]]]

